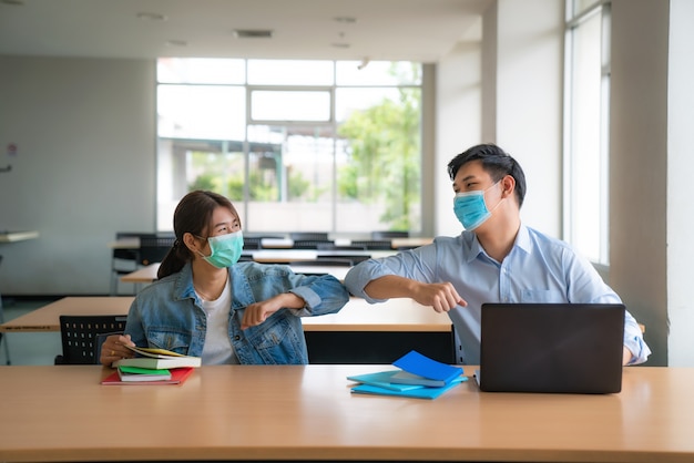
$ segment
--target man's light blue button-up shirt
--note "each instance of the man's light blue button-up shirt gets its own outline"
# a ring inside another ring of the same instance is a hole
[[[522,225],[502,263],[489,257],[473,233],[463,232],[395,256],[366,260],[349,270],[345,286],[370,303],[382,302],[370,298],[364,287],[386,275],[453,285],[468,302],[467,307],[458,306],[448,312],[460,343],[458,361],[467,364],[480,362],[483,302],[621,302],[590,261],[567,243]],[[645,362],[651,353],[629,311],[624,346],[633,353],[630,364]]]

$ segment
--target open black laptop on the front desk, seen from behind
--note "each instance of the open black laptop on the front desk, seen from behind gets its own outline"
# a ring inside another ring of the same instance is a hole
[[[620,392],[624,312],[622,303],[483,303],[480,389]]]

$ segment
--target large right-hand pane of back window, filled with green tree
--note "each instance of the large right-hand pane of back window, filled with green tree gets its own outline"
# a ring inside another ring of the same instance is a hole
[[[338,89],[337,228],[421,227],[420,89]]]

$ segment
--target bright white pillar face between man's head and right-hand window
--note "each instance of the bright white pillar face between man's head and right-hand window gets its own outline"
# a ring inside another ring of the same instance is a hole
[[[523,167],[523,222],[561,238],[563,2],[498,1],[497,143]],[[519,18],[523,18],[522,21]]]

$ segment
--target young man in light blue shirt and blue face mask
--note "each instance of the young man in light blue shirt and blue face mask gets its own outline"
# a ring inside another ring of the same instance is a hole
[[[483,302],[621,302],[568,244],[521,224],[525,176],[513,157],[478,145],[453,157],[448,173],[466,230],[353,267],[345,278],[353,295],[370,303],[408,297],[448,312],[467,364],[480,361]],[[643,363],[650,353],[626,312],[623,363]]]

